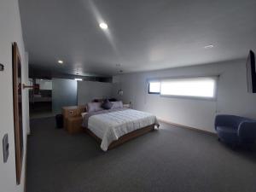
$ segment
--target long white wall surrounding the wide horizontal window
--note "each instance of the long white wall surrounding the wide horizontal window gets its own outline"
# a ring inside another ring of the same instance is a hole
[[[246,60],[180,67],[147,73],[115,76],[113,96],[122,87],[124,102],[133,108],[154,113],[159,119],[212,131],[216,113],[230,113],[256,119],[256,94],[247,93]],[[147,79],[160,77],[220,74],[217,101],[148,95]]]

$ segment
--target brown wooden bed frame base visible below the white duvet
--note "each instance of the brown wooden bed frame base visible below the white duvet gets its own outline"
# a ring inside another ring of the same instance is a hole
[[[96,142],[97,143],[102,143],[102,139],[97,137],[92,131],[90,131],[88,128],[84,128],[85,132],[88,133],[91,137],[94,137],[96,139]],[[111,149],[111,148],[115,148],[119,145],[121,145],[122,143],[125,143],[125,142],[128,142],[130,141],[131,139],[134,139],[136,137],[140,137],[150,131],[154,131],[154,124],[153,125],[148,125],[148,126],[145,126],[141,129],[138,129],[136,131],[131,131],[127,134],[125,134],[124,136],[122,137],[119,137],[118,140],[116,141],[113,141],[112,143],[110,143],[110,145],[108,146],[108,150]]]

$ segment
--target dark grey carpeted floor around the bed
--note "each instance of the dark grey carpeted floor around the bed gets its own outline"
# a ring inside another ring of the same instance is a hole
[[[27,192],[255,192],[256,155],[217,137],[166,124],[102,152],[86,134],[32,119]]]

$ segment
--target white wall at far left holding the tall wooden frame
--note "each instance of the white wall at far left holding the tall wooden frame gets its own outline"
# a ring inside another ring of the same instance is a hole
[[[18,0],[1,0],[0,2],[0,63],[5,67],[0,72],[0,191],[24,191],[26,163],[26,132],[29,131],[28,121],[28,90],[22,90],[23,129],[24,129],[24,159],[20,185],[16,185],[15,173],[15,137],[13,115],[13,85],[12,85],[12,42],[17,42],[20,49],[22,65],[22,83],[28,83],[28,58],[25,53],[20,24]],[[9,160],[3,164],[2,139],[5,133],[9,135]]]

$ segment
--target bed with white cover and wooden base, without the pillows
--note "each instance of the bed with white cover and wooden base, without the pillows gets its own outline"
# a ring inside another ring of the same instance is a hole
[[[103,151],[119,146],[149,131],[159,123],[151,113],[130,108],[114,108],[84,113],[84,130],[101,143]]]

